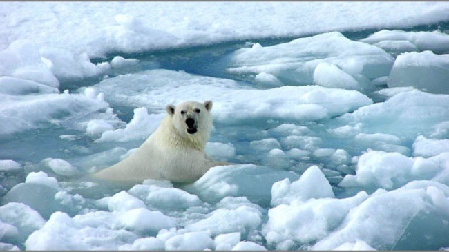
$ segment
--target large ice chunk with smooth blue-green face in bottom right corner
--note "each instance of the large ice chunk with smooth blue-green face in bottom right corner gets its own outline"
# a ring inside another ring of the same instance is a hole
[[[447,201],[448,186],[437,182],[411,182],[394,191],[376,192],[352,209],[338,230],[311,249],[330,250],[357,240],[382,250],[416,248],[441,241],[444,238],[439,234],[448,231],[441,218],[447,220],[448,212],[441,215],[428,197],[429,190],[441,191]]]

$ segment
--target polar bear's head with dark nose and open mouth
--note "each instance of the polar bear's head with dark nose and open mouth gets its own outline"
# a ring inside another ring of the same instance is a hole
[[[171,122],[181,136],[200,137],[206,141],[212,127],[211,109],[212,101],[186,101],[178,106],[166,106]]]

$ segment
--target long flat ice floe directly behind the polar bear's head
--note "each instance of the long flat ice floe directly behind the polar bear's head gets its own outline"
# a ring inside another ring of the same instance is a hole
[[[126,87],[123,82],[128,83]],[[179,85],[182,82],[183,85]],[[254,120],[316,120],[342,115],[372,104],[356,90],[321,86],[283,86],[259,90],[242,88],[236,81],[201,77],[171,70],[148,70],[133,75],[105,79],[95,89],[106,100],[120,106],[146,106],[165,114],[166,104],[179,104],[191,97],[213,97],[214,120],[224,124]],[[198,93],[196,90],[207,90]]]

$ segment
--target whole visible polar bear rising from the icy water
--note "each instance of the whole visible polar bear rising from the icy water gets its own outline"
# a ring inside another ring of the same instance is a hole
[[[159,128],[129,157],[93,177],[101,180],[142,182],[146,179],[193,182],[213,166],[204,153],[212,127],[212,101],[187,101],[166,106]]]

